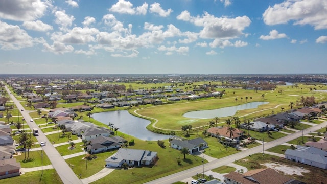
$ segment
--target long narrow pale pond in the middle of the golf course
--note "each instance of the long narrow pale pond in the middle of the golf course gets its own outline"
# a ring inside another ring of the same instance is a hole
[[[234,116],[237,111],[257,108],[259,105],[268,104],[269,102],[250,102],[243,105],[237,105],[232,107],[224,107],[213,110],[198,110],[184,113],[185,118],[198,118],[198,119],[209,119],[215,117],[229,117]]]

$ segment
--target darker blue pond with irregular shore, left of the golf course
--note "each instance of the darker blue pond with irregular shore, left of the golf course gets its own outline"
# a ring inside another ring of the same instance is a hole
[[[162,135],[149,131],[146,127],[151,122],[149,120],[138,118],[130,114],[127,110],[116,110],[110,112],[95,113],[92,117],[108,125],[108,122],[119,128],[118,131],[137,137],[144,141],[166,140],[170,135]],[[124,137],[127,139],[127,137]]]

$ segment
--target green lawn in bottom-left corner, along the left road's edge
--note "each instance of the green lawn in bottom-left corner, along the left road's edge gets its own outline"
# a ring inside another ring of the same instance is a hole
[[[27,172],[17,177],[2,179],[1,183],[34,184],[34,183],[62,183],[55,169]]]

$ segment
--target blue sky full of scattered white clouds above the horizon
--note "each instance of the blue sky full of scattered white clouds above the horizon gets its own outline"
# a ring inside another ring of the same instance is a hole
[[[326,74],[326,0],[1,0],[0,74]]]

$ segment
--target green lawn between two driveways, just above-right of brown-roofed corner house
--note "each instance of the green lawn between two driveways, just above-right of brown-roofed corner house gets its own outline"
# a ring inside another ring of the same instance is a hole
[[[26,158],[28,156],[28,152],[26,151]],[[21,152],[21,155],[14,156],[17,162],[20,162],[22,168],[32,168],[42,166],[42,155],[41,151],[30,151],[29,152],[29,159],[24,161],[25,152]],[[43,166],[50,165],[51,162],[46,156],[45,152],[43,152]]]

